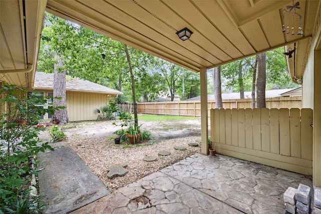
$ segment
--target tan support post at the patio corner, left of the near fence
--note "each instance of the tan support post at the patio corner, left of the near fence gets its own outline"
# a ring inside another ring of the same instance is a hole
[[[200,70],[200,84],[201,84],[201,136],[202,136],[202,154],[209,154],[208,144],[208,110],[207,110],[207,69]]]

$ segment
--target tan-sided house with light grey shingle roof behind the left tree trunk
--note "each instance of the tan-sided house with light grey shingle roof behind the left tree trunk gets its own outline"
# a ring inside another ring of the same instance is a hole
[[[34,90],[44,96],[53,96],[54,74],[36,72]],[[88,80],[66,76],[66,101],[69,121],[96,120],[94,109],[104,106],[109,98],[123,93]],[[51,105],[49,101],[48,105]],[[44,106],[45,108],[47,106]],[[50,120],[52,115],[45,115]]]

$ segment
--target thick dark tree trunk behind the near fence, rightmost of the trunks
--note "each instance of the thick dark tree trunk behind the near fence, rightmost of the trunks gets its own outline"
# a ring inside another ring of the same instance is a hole
[[[256,106],[265,108],[266,53],[258,54],[257,58]]]

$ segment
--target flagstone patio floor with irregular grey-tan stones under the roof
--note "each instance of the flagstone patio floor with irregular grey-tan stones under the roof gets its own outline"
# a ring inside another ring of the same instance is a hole
[[[224,155],[194,154],[106,195],[82,213],[284,213],[304,175]]]

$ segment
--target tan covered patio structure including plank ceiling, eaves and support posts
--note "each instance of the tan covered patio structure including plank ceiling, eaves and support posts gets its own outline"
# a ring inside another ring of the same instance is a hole
[[[44,12],[50,12],[199,72],[202,153],[207,154],[207,69],[277,47],[295,49],[286,59],[293,82],[302,84],[302,107],[313,110],[313,185],[321,186],[321,2],[299,1],[296,12],[302,19],[293,19],[293,35],[282,32],[283,12],[292,5],[289,0],[0,1],[0,81],[33,88]],[[176,35],[184,28],[193,32],[186,41]]]

